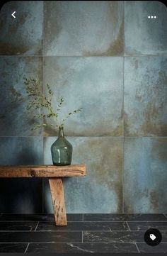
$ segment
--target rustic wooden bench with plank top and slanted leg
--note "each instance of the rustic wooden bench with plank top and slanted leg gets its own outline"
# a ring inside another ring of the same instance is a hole
[[[0,166],[0,178],[41,178],[49,179],[54,219],[56,226],[67,226],[62,177],[86,175],[86,165],[23,165]]]

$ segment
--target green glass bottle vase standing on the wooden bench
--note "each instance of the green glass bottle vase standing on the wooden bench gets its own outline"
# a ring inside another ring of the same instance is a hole
[[[59,127],[59,137],[51,146],[53,165],[71,165],[72,145],[64,138],[64,129]]]

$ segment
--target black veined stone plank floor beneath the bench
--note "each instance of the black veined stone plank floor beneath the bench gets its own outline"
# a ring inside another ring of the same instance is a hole
[[[167,252],[166,214],[67,214],[54,226],[52,214],[0,214],[0,252]],[[149,228],[159,245],[144,242]]]

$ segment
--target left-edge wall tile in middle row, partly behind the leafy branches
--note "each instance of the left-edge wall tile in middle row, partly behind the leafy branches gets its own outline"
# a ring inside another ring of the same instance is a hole
[[[30,136],[40,135],[40,130],[30,130],[36,111],[28,111],[26,104],[30,98],[25,91],[23,77],[42,79],[42,58],[40,57],[0,57],[0,135]]]

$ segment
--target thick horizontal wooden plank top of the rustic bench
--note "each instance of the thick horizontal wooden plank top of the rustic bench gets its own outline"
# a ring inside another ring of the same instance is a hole
[[[86,165],[0,165],[0,178],[77,177],[86,175]]]

